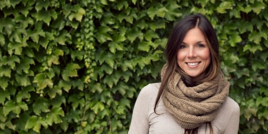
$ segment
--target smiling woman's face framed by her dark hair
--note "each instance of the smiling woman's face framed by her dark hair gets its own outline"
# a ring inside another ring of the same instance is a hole
[[[202,74],[211,63],[209,44],[199,28],[190,29],[178,50],[179,67],[190,77]]]

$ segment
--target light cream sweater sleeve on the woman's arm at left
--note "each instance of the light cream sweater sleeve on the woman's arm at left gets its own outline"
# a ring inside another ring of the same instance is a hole
[[[131,120],[131,125],[128,134],[148,134],[149,133],[149,118],[148,106],[150,103],[150,84],[145,86],[139,93]]]

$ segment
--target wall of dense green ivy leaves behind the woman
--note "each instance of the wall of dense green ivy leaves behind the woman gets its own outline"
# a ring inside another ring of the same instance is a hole
[[[192,13],[217,32],[239,133],[268,133],[268,0],[1,0],[0,133],[126,134]]]

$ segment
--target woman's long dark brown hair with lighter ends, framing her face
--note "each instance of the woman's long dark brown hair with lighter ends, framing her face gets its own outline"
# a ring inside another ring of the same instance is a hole
[[[204,34],[206,38],[206,41],[208,42],[208,46],[209,46],[210,53],[211,53],[211,63],[204,73],[198,76],[197,79],[193,80],[192,77],[188,76],[178,66],[176,58],[177,58],[178,50],[180,48],[180,45],[186,33],[194,27],[198,27],[202,31],[202,33]],[[164,91],[164,87],[166,86],[169,78],[172,78],[170,76],[172,76],[172,74],[175,71],[180,73],[183,82],[188,87],[196,86],[200,83],[210,81],[217,75],[220,69],[219,44],[218,44],[216,33],[211,25],[211,22],[205,16],[201,14],[186,16],[185,18],[178,21],[178,23],[174,26],[171,32],[170,38],[168,39],[168,42],[166,45],[166,57],[167,57],[167,69],[166,69],[166,72],[164,73],[164,76],[161,81],[161,85],[159,87],[158,94],[156,96],[156,101],[154,105],[155,114],[157,114],[156,108],[160,100],[160,97],[162,96],[162,93]],[[210,129],[212,130],[211,122],[209,122],[209,124],[210,124]],[[185,132],[185,134],[197,134],[197,130],[198,128],[191,129],[189,131],[186,130],[187,133]]]

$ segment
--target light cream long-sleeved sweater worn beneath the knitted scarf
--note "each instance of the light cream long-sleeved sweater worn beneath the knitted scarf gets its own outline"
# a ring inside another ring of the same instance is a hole
[[[153,112],[160,84],[149,84],[140,91],[128,134],[184,134],[185,130],[173,119],[161,99],[156,110],[160,115]],[[228,97],[215,119],[211,121],[214,134],[237,134],[239,115],[238,104]],[[198,128],[198,134],[210,134],[209,125],[201,125]]]

